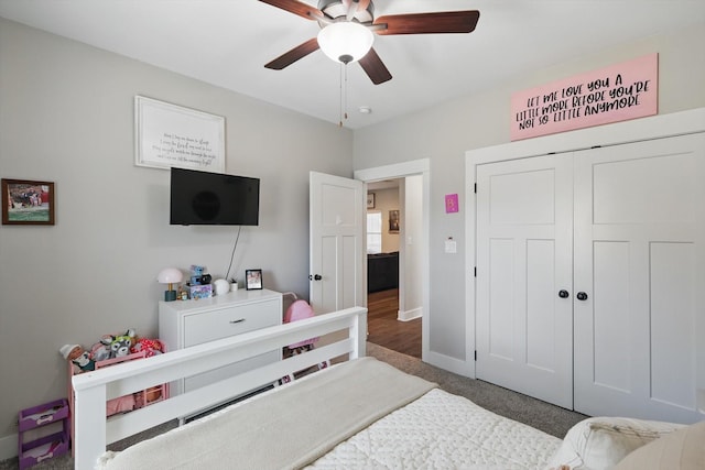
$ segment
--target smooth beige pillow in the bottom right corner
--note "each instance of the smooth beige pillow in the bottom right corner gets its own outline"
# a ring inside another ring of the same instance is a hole
[[[705,422],[674,430],[634,450],[615,470],[705,469]]]

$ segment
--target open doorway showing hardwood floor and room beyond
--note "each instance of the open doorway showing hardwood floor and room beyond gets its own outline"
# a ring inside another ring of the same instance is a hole
[[[368,340],[422,358],[421,176],[367,185]]]

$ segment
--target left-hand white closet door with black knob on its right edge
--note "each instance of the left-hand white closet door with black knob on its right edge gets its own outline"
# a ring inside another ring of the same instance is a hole
[[[571,155],[477,168],[477,376],[568,408],[572,179]]]

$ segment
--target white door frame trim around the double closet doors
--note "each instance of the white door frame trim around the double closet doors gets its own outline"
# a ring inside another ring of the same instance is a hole
[[[619,145],[623,143],[661,139],[672,135],[705,131],[705,108],[697,108],[671,114],[659,114],[650,118],[634,119],[560,134],[544,135],[535,139],[510,142],[485,149],[469,150],[465,153],[465,182],[468,190],[465,196],[465,311],[468,332],[467,350],[476,350],[476,285],[475,266],[477,249],[476,195],[477,165],[527,159],[550,153],[574,152],[595,146]],[[474,354],[468,354],[471,357]],[[467,370],[473,379],[476,376],[475,361]],[[703,386],[705,384],[701,384]]]

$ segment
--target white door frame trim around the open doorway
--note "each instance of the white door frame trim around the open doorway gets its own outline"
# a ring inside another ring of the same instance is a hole
[[[431,208],[431,160],[430,159],[420,159],[413,160],[409,162],[395,163],[391,165],[384,166],[376,166],[371,168],[362,168],[356,170],[354,173],[355,179],[360,179],[365,184],[377,182],[381,179],[395,179],[403,178],[406,176],[421,175],[422,177],[422,214],[421,214],[421,223],[422,223],[422,232],[423,232],[423,244],[422,244],[422,254],[421,254],[421,282],[422,282],[422,320],[421,320],[421,359],[424,362],[429,362],[430,357],[430,345],[429,345],[429,331],[431,327],[431,313],[429,310],[429,286],[431,282],[431,270],[429,262],[429,243],[430,243],[430,232],[431,232],[431,223],[429,211]],[[402,241],[405,243],[405,241]],[[365,259],[365,265],[362,269],[364,272],[367,271],[367,258]],[[400,283],[399,285],[399,296],[404,295],[404,283]]]

